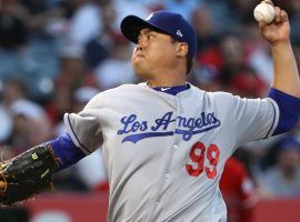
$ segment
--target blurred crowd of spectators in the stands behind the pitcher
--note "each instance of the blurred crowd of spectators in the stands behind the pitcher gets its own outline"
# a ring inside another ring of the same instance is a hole
[[[287,10],[300,64],[300,1]],[[80,111],[97,93],[140,80],[133,46],[120,33],[127,14],[167,9],[194,27],[198,53],[189,81],[208,91],[263,98],[272,58],[252,11],[259,0],[0,0],[1,159],[64,132],[64,112]],[[300,198],[300,127],[252,142],[227,162],[221,190],[229,221],[251,221],[260,199]],[[59,192],[108,192],[101,150],[56,175]],[[246,216],[247,215],[247,216]]]

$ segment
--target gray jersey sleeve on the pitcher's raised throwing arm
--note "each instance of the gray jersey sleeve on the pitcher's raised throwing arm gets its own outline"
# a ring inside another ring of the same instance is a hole
[[[237,145],[272,135],[279,121],[278,104],[268,99],[233,97]]]

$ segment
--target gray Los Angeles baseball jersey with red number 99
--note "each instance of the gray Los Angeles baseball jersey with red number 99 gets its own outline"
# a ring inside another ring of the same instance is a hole
[[[108,221],[226,221],[219,180],[246,142],[268,138],[279,119],[271,99],[190,89],[171,95],[126,84],[66,113],[72,141],[100,145],[110,196]]]

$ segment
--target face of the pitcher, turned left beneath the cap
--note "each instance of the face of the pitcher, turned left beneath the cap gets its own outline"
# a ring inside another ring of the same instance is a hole
[[[131,63],[139,77],[144,80],[163,74],[177,62],[177,42],[168,34],[142,29]]]

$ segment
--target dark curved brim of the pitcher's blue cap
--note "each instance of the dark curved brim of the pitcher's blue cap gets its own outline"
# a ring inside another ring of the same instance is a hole
[[[128,16],[121,22],[121,32],[131,42],[138,43],[138,36],[142,29],[151,29],[161,33],[167,33],[166,31],[159,29],[158,27],[144,21],[137,16]]]

